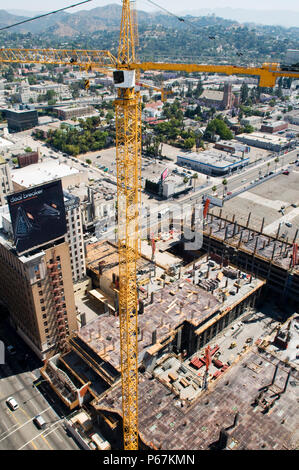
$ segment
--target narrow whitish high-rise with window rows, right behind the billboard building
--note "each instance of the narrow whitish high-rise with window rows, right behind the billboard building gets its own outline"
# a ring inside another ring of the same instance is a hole
[[[86,275],[80,198],[64,192],[64,207],[73,282],[78,282]]]

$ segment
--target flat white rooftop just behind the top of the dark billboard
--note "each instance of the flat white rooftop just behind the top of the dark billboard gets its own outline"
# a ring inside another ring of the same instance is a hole
[[[77,173],[79,173],[77,169],[71,168],[64,163],[45,159],[42,162],[12,170],[11,179],[14,183],[24,188],[29,188]]]

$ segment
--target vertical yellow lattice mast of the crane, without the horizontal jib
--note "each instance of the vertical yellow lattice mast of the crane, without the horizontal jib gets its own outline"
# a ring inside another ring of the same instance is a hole
[[[129,0],[123,1],[118,70],[135,61],[134,23]],[[116,72],[116,74],[119,72]],[[129,72],[132,74],[132,72]],[[141,198],[141,101],[135,71],[115,100],[119,251],[119,323],[125,450],[138,449],[137,260]],[[116,85],[117,86],[117,85]]]

